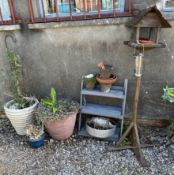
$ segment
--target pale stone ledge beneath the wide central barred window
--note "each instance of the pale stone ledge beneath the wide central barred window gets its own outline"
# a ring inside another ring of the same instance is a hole
[[[93,19],[93,20],[81,20],[81,21],[65,21],[65,22],[48,22],[48,23],[35,23],[29,24],[29,29],[54,29],[62,27],[83,27],[83,26],[98,26],[98,25],[118,25],[128,22],[131,17],[122,18],[107,18],[107,19]]]

